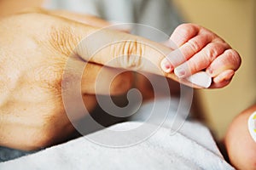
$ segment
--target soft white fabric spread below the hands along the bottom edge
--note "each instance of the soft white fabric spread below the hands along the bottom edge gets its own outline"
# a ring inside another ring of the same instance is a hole
[[[141,122],[125,122],[111,128],[125,130],[140,125]],[[152,126],[148,124],[148,127]],[[101,135],[103,131],[90,135]],[[185,122],[182,131],[170,135],[170,128],[160,127],[157,133],[142,143],[118,149],[79,138],[3,162],[0,169],[233,169],[219,154],[206,127]],[[195,136],[198,139],[190,138],[193,133],[197,133]],[[125,140],[131,137],[117,138]]]

